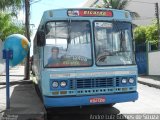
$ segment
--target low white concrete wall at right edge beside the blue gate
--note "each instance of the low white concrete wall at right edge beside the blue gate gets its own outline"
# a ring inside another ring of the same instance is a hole
[[[160,75],[160,51],[148,53],[148,74]]]

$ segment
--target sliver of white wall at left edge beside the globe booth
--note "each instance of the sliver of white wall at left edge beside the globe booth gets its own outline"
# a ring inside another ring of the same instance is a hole
[[[2,50],[3,50],[3,43],[0,40],[0,75],[5,71],[5,62],[3,60],[3,54],[2,54]]]

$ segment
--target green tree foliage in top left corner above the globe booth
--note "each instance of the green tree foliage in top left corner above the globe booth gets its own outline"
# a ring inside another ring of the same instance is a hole
[[[0,39],[5,40],[8,35],[14,33],[25,33],[24,26],[14,22],[22,2],[22,0],[0,0]]]

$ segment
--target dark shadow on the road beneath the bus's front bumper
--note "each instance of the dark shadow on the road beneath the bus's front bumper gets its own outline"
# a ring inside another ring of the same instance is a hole
[[[106,105],[49,109],[47,118],[48,120],[127,120],[118,109]]]

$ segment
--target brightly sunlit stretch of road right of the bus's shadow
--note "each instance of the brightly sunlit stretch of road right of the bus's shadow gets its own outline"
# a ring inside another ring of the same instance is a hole
[[[136,102],[116,104],[122,114],[160,114],[160,89],[138,84],[139,98]]]

